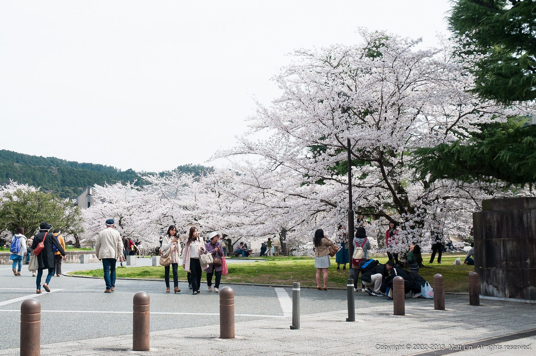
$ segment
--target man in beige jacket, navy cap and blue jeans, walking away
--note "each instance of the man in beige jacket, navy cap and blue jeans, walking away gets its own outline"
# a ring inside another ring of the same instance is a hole
[[[111,293],[115,289],[115,263],[123,258],[123,241],[121,235],[114,229],[114,219],[106,220],[106,228],[103,229],[95,240],[95,255],[102,260],[104,280],[106,283],[105,293]]]

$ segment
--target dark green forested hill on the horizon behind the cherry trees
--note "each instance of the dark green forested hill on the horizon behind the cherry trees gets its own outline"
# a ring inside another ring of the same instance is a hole
[[[212,167],[185,165],[178,166],[175,170],[200,175],[211,172]],[[165,175],[168,172],[160,174]],[[62,198],[76,198],[87,186],[102,186],[105,182],[137,180],[136,184],[145,183],[132,169],[122,171],[111,166],[0,150],[0,184],[8,183],[10,179],[55,192]]]

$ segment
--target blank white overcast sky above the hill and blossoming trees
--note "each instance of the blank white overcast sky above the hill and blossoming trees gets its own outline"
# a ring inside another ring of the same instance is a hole
[[[2,1],[0,149],[161,171],[206,162],[297,48],[386,29],[435,46],[448,0]],[[43,136],[51,138],[43,142]]]

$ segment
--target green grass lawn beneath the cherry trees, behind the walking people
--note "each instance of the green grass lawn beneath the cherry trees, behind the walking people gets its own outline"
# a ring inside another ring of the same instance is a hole
[[[474,271],[474,266],[453,265],[456,257],[463,259],[465,254],[444,254],[442,264],[428,264],[430,255],[423,255],[425,266],[421,268],[419,274],[425,278],[431,286],[434,285],[434,275],[441,273],[445,278],[445,292],[467,292],[468,273]],[[387,261],[387,257],[375,257],[381,263]],[[229,274],[222,277],[222,283],[258,283],[258,284],[282,284],[292,285],[293,282],[300,282],[302,286],[316,286],[315,261],[311,257],[268,257],[263,262],[244,262],[228,264]],[[348,270],[337,271],[335,258],[331,259],[329,270],[328,287],[345,287],[348,278]],[[75,271],[72,275],[102,277],[102,269],[89,271]],[[151,278],[163,279],[164,269],[162,266],[156,267],[118,267],[117,277],[126,278]],[[204,279],[205,277],[203,277]],[[186,272],[179,266],[178,279],[186,280]]]

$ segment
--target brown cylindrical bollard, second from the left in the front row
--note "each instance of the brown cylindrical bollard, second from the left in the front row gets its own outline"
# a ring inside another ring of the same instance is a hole
[[[146,292],[134,294],[132,306],[132,351],[149,351],[149,295]]]

